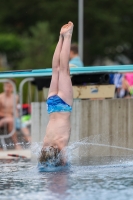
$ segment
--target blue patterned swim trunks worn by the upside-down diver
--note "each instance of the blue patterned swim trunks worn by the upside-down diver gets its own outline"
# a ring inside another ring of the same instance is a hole
[[[52,112],[71,112],[72,107],[65,103],[58,95],[51,96],[47,99],[48,114]]]

